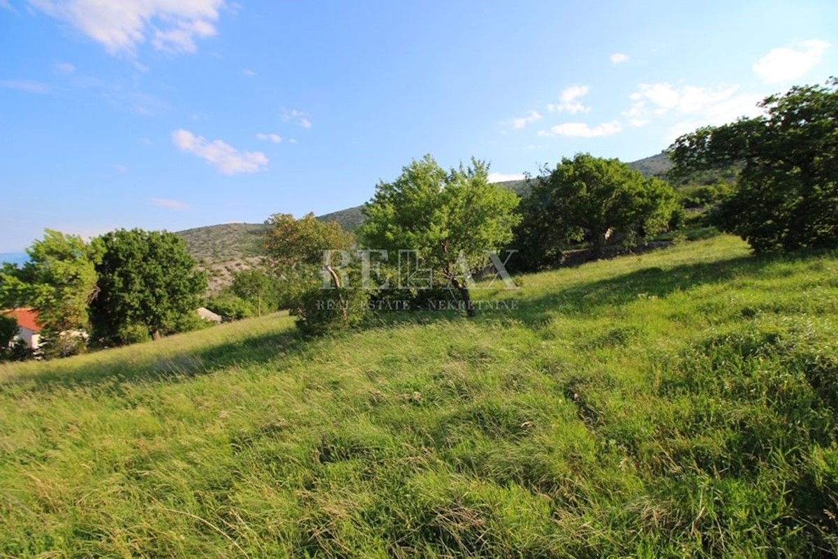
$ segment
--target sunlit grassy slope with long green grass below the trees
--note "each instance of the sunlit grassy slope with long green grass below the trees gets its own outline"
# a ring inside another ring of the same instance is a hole
[[[518,310],[0,368],[0,553],[834,555],[838,255],[732,237]]]

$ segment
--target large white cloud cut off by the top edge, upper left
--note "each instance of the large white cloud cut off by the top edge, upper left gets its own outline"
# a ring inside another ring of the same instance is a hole
[[[224,0],[29,0],[79,29],[111,54],[133,54],[152,37],[155,49],[194,52],[195,39],[215,35]]]

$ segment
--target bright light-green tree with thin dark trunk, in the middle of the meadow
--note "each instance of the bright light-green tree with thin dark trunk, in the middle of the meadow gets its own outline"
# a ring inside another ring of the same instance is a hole
[[[473,316],[472,275],[489,264],[489,251],[512,240],[518,202],[517,194],[489,183],[487,163],[473,158],[468,167],[446,171],[426,155],[396,180],[378,184],[359,236],[370,249],[394,256],[415,251],[422,266],[458,290]]]

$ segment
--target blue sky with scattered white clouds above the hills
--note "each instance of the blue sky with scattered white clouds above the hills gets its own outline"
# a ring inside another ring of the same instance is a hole
[[[0,0],[0,252],[624,161],[838,74],[838,3]]]

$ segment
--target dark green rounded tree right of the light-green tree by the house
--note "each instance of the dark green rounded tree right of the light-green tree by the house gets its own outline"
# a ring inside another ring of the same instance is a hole
[[[186,242],[168,231],[116,230],[100,237],[100,292],[91,322],[101,344],[124,344],[138,325],[153,339],[177,331],[195,312],[207,281]]]

